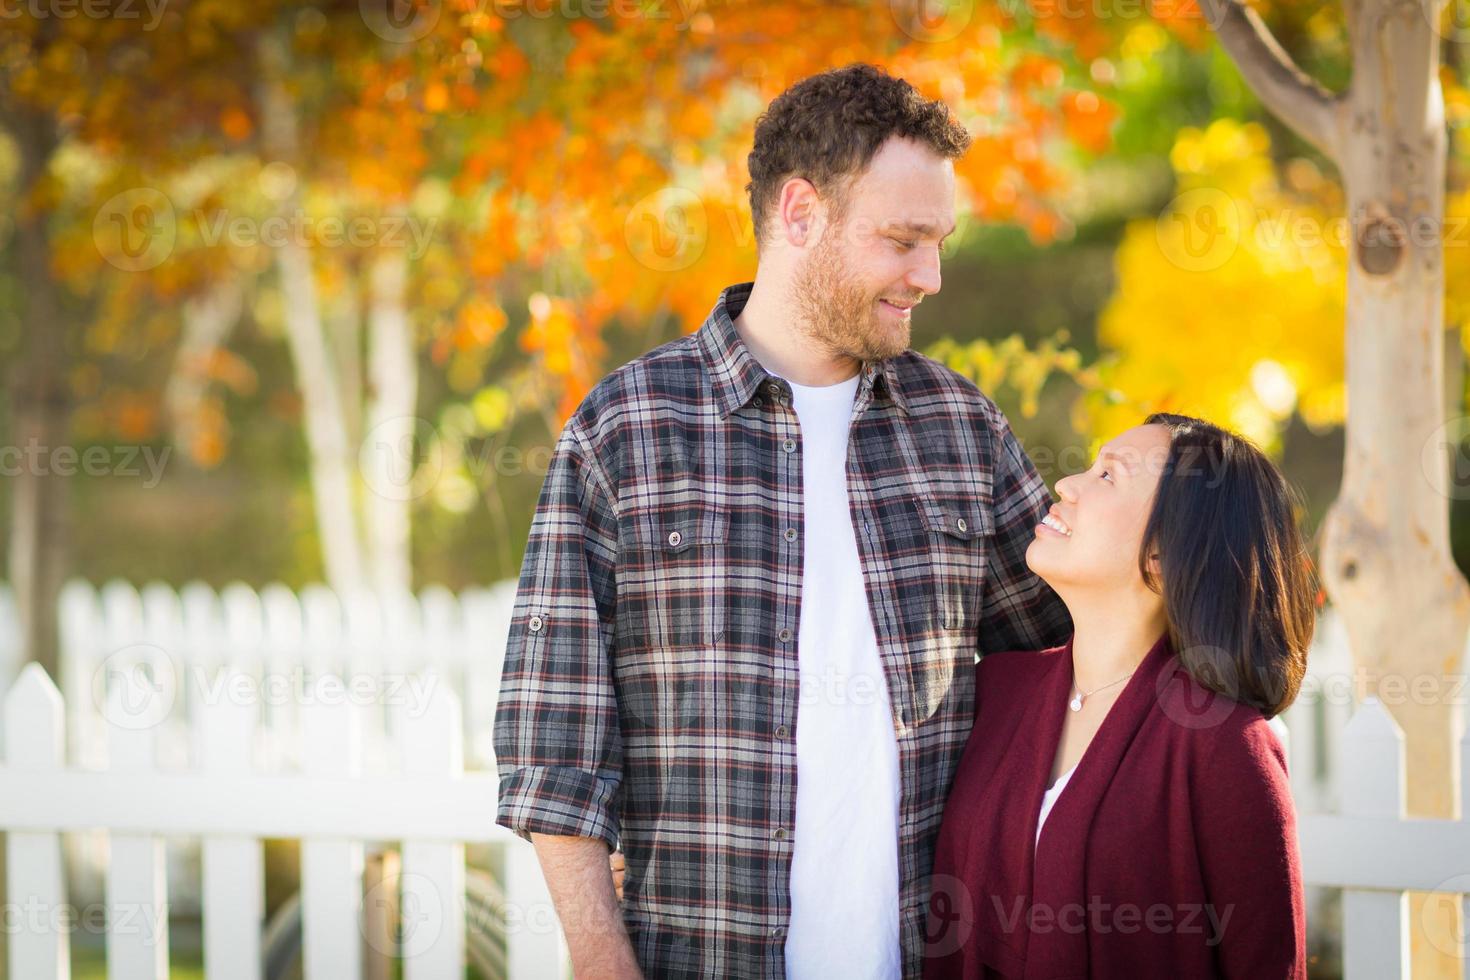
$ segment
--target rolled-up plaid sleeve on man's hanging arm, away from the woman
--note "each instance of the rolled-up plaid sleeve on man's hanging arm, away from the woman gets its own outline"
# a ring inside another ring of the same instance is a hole
[[[557,439],[532,519],[495,707],[495,823],[526,840],[535,832],[617,843],[612,501],[573,417]]]

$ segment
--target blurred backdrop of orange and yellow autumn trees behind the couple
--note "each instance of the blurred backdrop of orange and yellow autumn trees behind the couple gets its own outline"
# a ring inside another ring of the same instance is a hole
[[[22,447],[175,454],[157,486],[7,480],[22,595],[65,574],[513,574],[560,420],[753,275],[754,115],[857,59],[976,135],[917,347],[1057,460],[1167,406],[1274,448],[1314,523],[1332,500],[1341,190],[1194,3],[97,9],[21,16],[0,41],[6,423]],[[1345,84],[1341,10],[1267,13],[1298,63]],[[1467,100],[1445,47],[1460,213]],[[1245,232],[1201,267],[1185,237],[1220,201]],[[1463,267],[1464,248],[1446,256]]]

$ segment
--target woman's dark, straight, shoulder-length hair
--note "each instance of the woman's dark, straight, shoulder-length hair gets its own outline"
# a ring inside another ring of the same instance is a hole
[[[1273,717],[1301,689],[1316,623],[1297,494],[1242,436],[1188,416],[1145,423],[1169,429],[1169,454],[1138,555],[1144,582],[1164,597],[1189,676]]]

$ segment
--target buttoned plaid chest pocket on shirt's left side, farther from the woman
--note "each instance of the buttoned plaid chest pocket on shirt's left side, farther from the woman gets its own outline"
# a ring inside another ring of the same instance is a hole
[[[725,635],[729,513],[670,501],[619,526],[617,646],[709,646]]]

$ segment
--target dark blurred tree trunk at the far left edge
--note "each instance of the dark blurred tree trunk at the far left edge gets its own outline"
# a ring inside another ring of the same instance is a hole
[[[26,107],[6,112],[19,150],[15,245],[25,284],[25,356],[9,379],[13,442],[21,466],[10,482],[9,576],[21,617],[22,660],[40,663],[60,679],[56,605],[66,576],[68,478],[51,472],[53,454],[71,436],[66,391],[66,317],[51,279],[47,212],[38,212],[29,190],[46,176],[59,137],[54,120]]]

